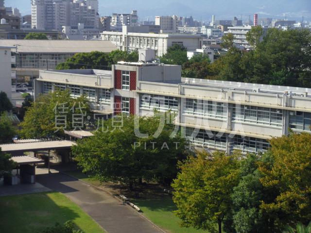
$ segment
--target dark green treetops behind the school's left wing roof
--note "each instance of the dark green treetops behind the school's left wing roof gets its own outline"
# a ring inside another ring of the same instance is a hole
[[[76,53],[66,62],[60,63],[56,69],[111,69],[111,65],[120,61],[137,62],[138,52],[114,50],[110,53],[92,51]]]

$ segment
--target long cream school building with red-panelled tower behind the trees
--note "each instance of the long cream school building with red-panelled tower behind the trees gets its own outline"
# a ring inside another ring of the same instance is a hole
[[[191,144],[207,150],[265,152],[268,140],[311,133],[311,89],[181,78],[180,66],[119,63],[111,71],[40,71],[35,96],[69,88],[104,116],[175,113]],[[116,116],[118,119],[119,116]]]

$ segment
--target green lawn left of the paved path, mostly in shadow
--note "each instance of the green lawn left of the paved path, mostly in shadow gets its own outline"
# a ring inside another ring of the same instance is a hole
[[[0,216],[3,233],[40,233],[68,220],[85,233],[104,233],[78,205],[56,192],[0,197]]]

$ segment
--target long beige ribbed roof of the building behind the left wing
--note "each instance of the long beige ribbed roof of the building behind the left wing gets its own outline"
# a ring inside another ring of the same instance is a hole
[[[0,40],[0,47],[14,47],[19,53],[111,52],[118,48],[104,40]]]

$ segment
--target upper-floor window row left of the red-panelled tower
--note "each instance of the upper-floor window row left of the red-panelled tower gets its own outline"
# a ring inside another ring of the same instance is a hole
[[[111,99],[111,92],[109,89],[102,89],[102,88],[94,88],[94,87],[87,87],[87,86],[78,86],[78,85],[70,85],[70,84],[63,84],[63,83],[49,83],[43,82],[43,93],[49,93],[52,91],[52,86],[54,85],[54,89],[70,90],[70,96],[77,98],[80,97],[82,94],[86,96],[86,98],[90,102],[97,101],[102,103],[110,103]],[[81,92],[82,89],[82,92]]]

